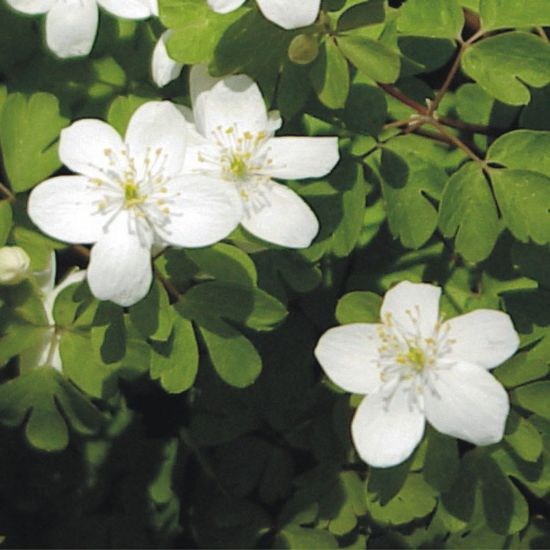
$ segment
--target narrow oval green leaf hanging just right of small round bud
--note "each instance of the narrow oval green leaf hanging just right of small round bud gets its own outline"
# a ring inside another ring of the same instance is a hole
[[[329,109],[341,109],[349,94],[350,76],[346,58],[333,40],[326,40],[309,73],[319,101]]]

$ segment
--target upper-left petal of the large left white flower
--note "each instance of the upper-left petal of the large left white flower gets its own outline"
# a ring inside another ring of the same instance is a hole
[[[110,169],[106,152],[125,149],[113,127],[102,120],[84,119],[61,131],[59,158],[73,172],[97,178]]]

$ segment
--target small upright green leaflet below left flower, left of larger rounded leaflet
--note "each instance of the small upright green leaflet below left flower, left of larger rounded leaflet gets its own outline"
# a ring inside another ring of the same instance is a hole
[[[199,369],[199,349],[191,322],[176,317],[170,339],[153,347],[151,378],[160,378],[161,386],[168,393],[188,390]]]

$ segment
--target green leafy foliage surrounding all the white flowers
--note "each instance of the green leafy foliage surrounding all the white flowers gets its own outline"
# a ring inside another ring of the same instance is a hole
[[[0,543],[549,547],[550,4],[323,0],[291,30],[254,0],[159,13],[102,10],[92,53],[61,60],[42,16],[0,5],[0,245],[32,272],[0,286]],[[167,29],[186,67],[159,89]],[[331,174],[284,182],[319,234],[301,250],[242,228],[204,248],[156,243],[137,304],[85,282],[47,303],[52,251],[56,284],[89,256],[27,215],[32,188],[70,172],[62,129],[100,118],[124,135],[147,101],[189,107],[199,63],[256,80],[277,135],[338,137]],[[350,434],[362,396],[327,381],[314,350],[336,323],[378,323],[403,280],[441,286],[445,318],[507,312],[520,349],[491,371],[510,397],[502,441],[427,425],[412,457],[377,469]]]

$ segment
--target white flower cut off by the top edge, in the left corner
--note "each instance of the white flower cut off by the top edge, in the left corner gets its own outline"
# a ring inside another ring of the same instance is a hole
[[[157,0],[7,0],[23,13],[46,15],[46,42],[61,58],[88,55],[97,33],[98,5],[124,19],[158,15]]]

